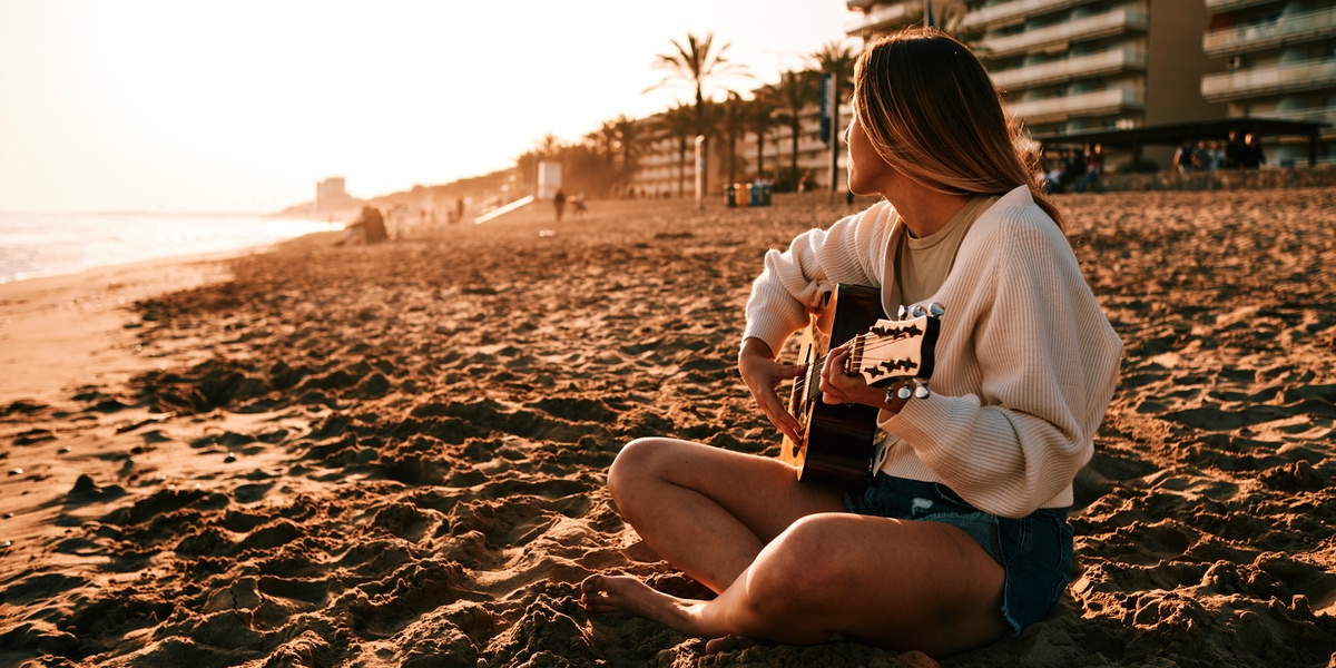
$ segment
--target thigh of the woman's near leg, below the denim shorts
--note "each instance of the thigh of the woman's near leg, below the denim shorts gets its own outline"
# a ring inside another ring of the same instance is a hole
[[[748,578],[820,631],[945,656],[1002,637],[1002,566],[957,526],[812,516],[771,542]],[[782,615],[782,613],[780,613]]]

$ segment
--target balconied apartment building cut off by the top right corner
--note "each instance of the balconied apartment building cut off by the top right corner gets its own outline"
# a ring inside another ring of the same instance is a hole
[[[1205,0],[1206,56],[1222,61],[1201,80],[1230,118],[1323,123],[1319,162],[1336,162],[1336,7],[1331,0]],[[1303,164],[1303,138],[1277,138],[1272,164]]]

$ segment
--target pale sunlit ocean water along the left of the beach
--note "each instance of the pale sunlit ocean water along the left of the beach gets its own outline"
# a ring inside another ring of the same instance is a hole
[[[240,251],[334,228],[342,224],[257,215],[0,212],[0,283]]]

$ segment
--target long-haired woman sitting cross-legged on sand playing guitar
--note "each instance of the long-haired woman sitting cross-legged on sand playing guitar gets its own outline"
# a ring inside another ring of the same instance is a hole
[[[799,482],[774,458],[628,444],[608,477],[623,517],[719,596],[593,576],[587,609],[700,637],[855,637],[947,656],[1018,633],[1065,591],[1065,509],[1122,346],[1038,190],[1037,162],[974,55],[934,29],[859,56],[844,140],[850,190],[884,200],[767,254],[739,370],[799,440],[776,386],[803,369],[775,353],[835,285],[868,285],[888,313],[945,306],[933,394],[871,387],[842,371],[847,350],[831,351],[823,401],[880,409],[884,433],[875,476],[851,494]]]

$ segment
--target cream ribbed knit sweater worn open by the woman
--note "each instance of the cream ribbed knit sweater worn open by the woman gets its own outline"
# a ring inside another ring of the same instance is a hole
[[[904,226],[883,200],[799,235],[787,251],[771,250],[743,337],[778,351],[836,283],[886,285],[899,234]],[[1122,342],[1026,187],[975,220],[929,302],[946,307],[933,394],[882,414],[890,450],[880,470],[943,482],[1003,517],[1071,505],[1071,481],[1090,461],[1113,398]]]

